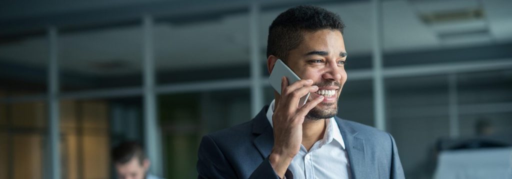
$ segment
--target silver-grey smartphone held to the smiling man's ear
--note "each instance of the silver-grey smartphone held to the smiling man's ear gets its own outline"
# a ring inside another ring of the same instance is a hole
[[[283,78],[283,76],[286,76],[288,79],[288,85],[294,83],[295,81],[301,80],[301,78],[293,73],[293,71],[281,59],[278,59],[278,61],[275,62],[274,68],[270,74],[270,77],[268,78],[268,81],[279,94],[281,94],[281,78]],[[302,107],[304,104],[306,104],[308,98],[309,93],[301,98],[301,100],[298,102],[298,106]]]

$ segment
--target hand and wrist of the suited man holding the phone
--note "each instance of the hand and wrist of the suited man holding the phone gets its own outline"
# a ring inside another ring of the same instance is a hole
[[[269,160],[274,171],[281,177],[285,175],[293,157],[301,149],[302,123],[309,111],[322,102],[323,96],[313,99],[302,107],[298,107],[301,97],[308,93],[318,91],[318,86],[313,86],[313,80],[298,80],[288,84],[288,79],[281,79],[281,98],[275,105],[272,115],[274,127],[274,147]]]

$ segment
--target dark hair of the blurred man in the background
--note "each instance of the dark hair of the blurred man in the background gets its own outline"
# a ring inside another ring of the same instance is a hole
[[[114,161],[115,164],[126,164],[134,157],[137,158],[140,165],[142,165],[143,161],[146,159],[142,145],[136,141],[122,142],[112,149],[112,161]]]

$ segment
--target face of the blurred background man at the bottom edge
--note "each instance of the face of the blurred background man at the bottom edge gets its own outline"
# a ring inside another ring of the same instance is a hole
[[[143,179],[149,166],[150,162],[147,159],[141,164],[139,159],[134,157],[125,164],[116,164],[117,177],[119,179]]]

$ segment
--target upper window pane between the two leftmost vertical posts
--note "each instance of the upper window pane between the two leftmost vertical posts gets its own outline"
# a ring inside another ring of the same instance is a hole
[[[61,30],[58,46],[62,92],[142,85],[140,25]]]

